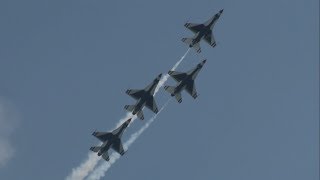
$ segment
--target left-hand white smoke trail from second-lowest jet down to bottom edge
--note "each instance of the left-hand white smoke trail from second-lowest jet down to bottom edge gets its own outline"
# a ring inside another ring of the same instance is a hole
[[[133,116],[131,113],[127,113],[125,117],[121,118],[119,122],[116,125],[116,128],[119,127],[124,121],[131,119],[131,122],[133,122],[137,116]],[[98,146],[101,146],[102,143],[100,143]],[[96,167],[99,160],[101,158],[97,156],[96,153],[89,152],[88,158],[84,160],[78,167],[73,168],[71,174],[69,174],[65,179],[66,180],[83,180],[85,177],[89,175],[89,173]]]

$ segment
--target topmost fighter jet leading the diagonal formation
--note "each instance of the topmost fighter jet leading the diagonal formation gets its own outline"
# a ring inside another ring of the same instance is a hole
[[[204,24],[196,23],[186,23],[184,26],[195,33],[193,38],[182,38],[182,41],[189,45],[190,48],[194,48],[197,53],[201,52],[200,41],[204,39],[212,47],[216,46],[216,41],[214,40],[212,34],[212,28],[219,19],[223,12],[223,9],[219,13],[215,14],[212,18],[206,21]]]

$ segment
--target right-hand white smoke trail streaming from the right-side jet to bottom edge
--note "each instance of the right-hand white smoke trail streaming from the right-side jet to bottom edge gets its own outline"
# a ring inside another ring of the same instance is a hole
[[[168,101],[161,107],[158,114],[168,105],[171,98],[168,99]],[[139,129],[139,131],[133,133],[130,138],[123,144],[124,149],[128,149],[137,139],[138,137],[151,125],[151,123],[157,118],[157,115],[155,114],[147,123],[142,126],[142,128]],[[109,170],[109,168],[114,164],[118,159],[120,158],[120,155],[118,153],[113,152],[110,155],[109,162],[103,162],[100,166],[98,166],[91,175],[87,178],[87,180],[99,180],[101,179],[106,172]]]

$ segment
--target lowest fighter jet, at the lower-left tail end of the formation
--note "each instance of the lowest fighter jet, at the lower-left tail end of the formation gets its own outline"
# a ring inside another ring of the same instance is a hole
[[[121,156],[125,153],[121,143],[121,136],[123,131],[128,127],[131,118],[124,122],[120,127],[113,130],[112,132],[93,132],[92,135],[103,142],[101,146],[93,146],[90,148],[91,151],[97,152],[98,156],[102,155],[102,158],[109,161],[108,150],[112,148],[118,152]]]

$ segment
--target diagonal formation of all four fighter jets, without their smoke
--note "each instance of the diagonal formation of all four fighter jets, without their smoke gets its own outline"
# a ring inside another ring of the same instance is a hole
[[[197,53],[201,52],[200,41],[204,39],[212,47],[216,46],[216,41],[212,34],[212,29],[220,18],[223,9],[220,10],[217,14],[211,17],[208,21],[203,24],[196,23],[186,23],[184,26],[195,33],[192,38],[182,38],[182,41],[189,45],[189,48],[193,48]],[[194,99],[198,97],[194,80],[197,77],[198,73],[202,69],[203,65],[206,63],[206,60],[203,60],[196,67],[187,71],[187,72],[177,72],[169,71],[168,74],[177,82],[176,86],[164,86],[165,91],[170,93],[171,96],[174,96],[175,99],[181,103],[182,97],[181,92],[186,90]],[[126,94],[137,100],[134,105],[125,105],[124,109],[131,112],[132,115],[137,115],[139,119],[143,120],[143,108],[147,107],[155,114],[159,112],[157,104],[154,99],[155,89],[158,86],[158,83],[161,79],[162,74],[159,74],[147,87],[144,89],[128,89]],[[98,153],[98,156],[102,156],[103,159],[109,161],[108,151],[112,148],[114,151],[118,152],[120,155],[125,154],[121,143],[121,136],[125,129],[130,124],[131,118],[121,124],[118,128],[112,132],[93,132],[92,135],[98,138],[102,144],[99,146],[91,147],[90,150]]]

